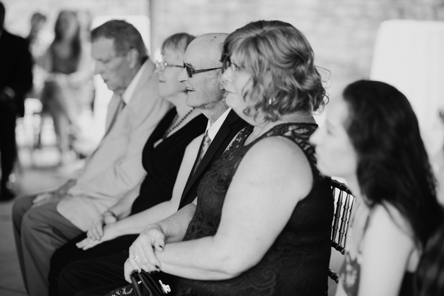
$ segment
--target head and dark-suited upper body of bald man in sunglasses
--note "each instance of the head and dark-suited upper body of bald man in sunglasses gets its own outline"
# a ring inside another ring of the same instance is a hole
[[[199,109],[208,125],[193,169],[185,184],[179,209],[197,196],[197,187],[203,175],[225,151],[234,136],[247,123],[228,108],[223,100],[222,45],[228,34],[205,34],[194,39],[186,48],[184,70],[178,77],[188,89],[186,104]]]

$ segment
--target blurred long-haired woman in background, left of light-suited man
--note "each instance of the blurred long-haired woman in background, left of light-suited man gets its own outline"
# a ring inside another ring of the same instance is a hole
[[[83,108],[90,108],[92,87],[92,60],[90,46],[80,39],[80,23],[72,10],[59,13],[54,28],[55,38],[41,60],[47,72],[41,102],[54,122],[61,163],[74,157],[72,140],[79,131],[79,116]]]

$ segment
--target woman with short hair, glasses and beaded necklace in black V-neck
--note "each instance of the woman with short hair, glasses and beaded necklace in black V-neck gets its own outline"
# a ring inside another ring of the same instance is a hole
[[[147,224],[177,211],[208,121],[185,104],[185,86],[177,82],[185,49],[193,39],[178,33],[162,44],[162,61],[156,62],[158,91],[174,108],[159,122],[143,150],[141,161],[147,176],[139,196],[135,200],[123,198],[97,217],[86,234],[56,251],[48,277],[50,295],[59,295],[58,277],[70,262],[128,252]]]

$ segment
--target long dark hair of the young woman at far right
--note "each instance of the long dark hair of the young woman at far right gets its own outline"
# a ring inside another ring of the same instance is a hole
[[[360,189],[374,205],[393,205],[409,222],[416,243],[427,239],[443,219],[436,179],[406,96],[395,87],[361,80],[343,92],[347,133],[358,154]]]

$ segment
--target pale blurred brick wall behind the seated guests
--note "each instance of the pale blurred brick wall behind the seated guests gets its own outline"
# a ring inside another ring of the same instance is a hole
[[[330,96],[351,81],[368,78],[378,25],[388,19],[444,20],[444,0],[3,0],[6,27],[26,35],[34,11],[48,15],[52,30],[62,8],[92,15],[148,14],[152,47],[171,34],[232,32],[259,19],[293,24],[308,38],[317,65],[331,71]],[[152,11],[149,11],[151,6]]]

